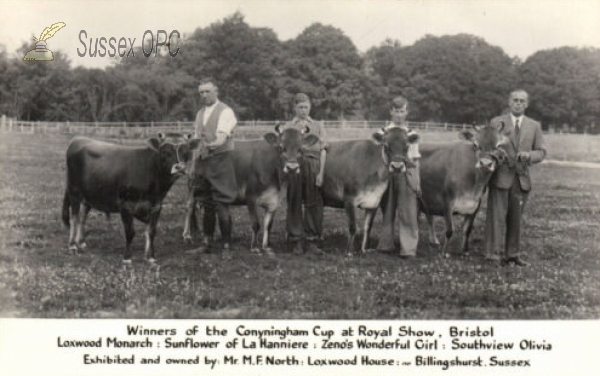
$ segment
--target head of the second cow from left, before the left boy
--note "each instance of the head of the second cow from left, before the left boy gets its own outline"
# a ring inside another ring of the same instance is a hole
[[[286,127],[282,131],[280,126],[281,124],[277,124],[275,133],[265,134],[264,139],[279,153],[283,160],[283,172],[299,174],[302,147],[314,145],[319,141],[319,137],[310,133],[308,126],[302,131],[292,127]]]

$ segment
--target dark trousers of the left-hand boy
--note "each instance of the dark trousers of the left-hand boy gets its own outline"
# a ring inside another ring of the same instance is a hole
[[[320,238],[323,234],[323,196],[316,185],[319,166],[318,159],[305,157],[300,165],[300,176],[289,177],[286,226],[292,242],[304,236]]]

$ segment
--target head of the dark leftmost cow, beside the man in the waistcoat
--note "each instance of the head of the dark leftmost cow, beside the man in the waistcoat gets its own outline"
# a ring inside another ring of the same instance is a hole
[[[157,138],[148,140],[148,145],[158,152],[161,167],[171,175],[179,176],[185,173],[186,164],[192,157],[192,144],[197,140],[191,138],[191,134],[159,133]]]

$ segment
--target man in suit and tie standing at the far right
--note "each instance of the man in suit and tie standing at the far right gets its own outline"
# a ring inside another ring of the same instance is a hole
[[[502,265],[526,266],[520,256],[521,215],[531,190],[529,166],[541,162],[546,156],[546,146],[539,122],[524,115],[529,95],[518,89],[510,93],[510,112],[492,119],[491,124],[500,127],[510,142],[504,146],[507,161],[498,166],[490,180],[487,218],[485,228],[485,258],[498,261],[501,232],[506,225],[504,257]]]

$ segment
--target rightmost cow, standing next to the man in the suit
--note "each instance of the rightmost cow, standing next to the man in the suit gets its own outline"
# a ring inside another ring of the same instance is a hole
[[[422,195],[419,208],[425,213],[429,227],[429,242],[439,246],[433,228],[433,216],[443,216],[446,238],[441,248],[448,256],[448,245],[454,232],[453,214],[464,217],[462,252],[468,253],[473,221],[481,205],[487,184],[505,154],[501,145],[509,141],[494,126],[473,126],[459,133],[460,140],[452,142],[423,142],[420,144],[420,178]]]

